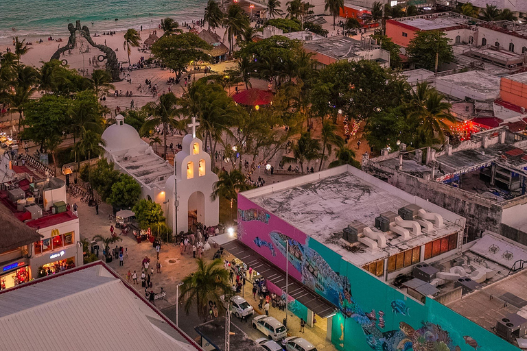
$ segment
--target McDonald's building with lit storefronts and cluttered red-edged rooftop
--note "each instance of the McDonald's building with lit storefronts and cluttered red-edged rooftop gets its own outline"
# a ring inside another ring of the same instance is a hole
[[[82,265],[79,219],[67,204],[65,181],[40,178],[25,166],[12,165],[12,171],[12,178],[1,184],[1,223],[19,221],[25,228],[0,234],[5,242],[0,254],[2,285],[8,288]],[[18,232],[20,237],[10,239]]]

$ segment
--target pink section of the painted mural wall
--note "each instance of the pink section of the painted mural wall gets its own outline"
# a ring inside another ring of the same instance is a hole
[[[280,234],[306,244],[303,232],[238,194],[238,239],[285,271],[285,241]],[[292,263],[289,272],[296,280],[302,279]]]

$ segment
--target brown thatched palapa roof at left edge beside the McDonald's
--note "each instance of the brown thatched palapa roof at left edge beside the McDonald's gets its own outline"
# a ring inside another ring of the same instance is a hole
[[[14,217],[9,208],[0,202],[0,254],[16,249],[23,245],[29,245],[43,238],[25,223]]]

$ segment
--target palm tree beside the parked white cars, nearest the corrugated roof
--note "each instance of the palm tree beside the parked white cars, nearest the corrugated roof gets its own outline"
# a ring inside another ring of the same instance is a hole
[[[220,258],[211,263],[198,258],[197,263],[198,269],[183,278],[179,300],[185,301],[187,314],[192,304],[196,304],[198,316],[206,319],[209,301],[215,303],[218,308],[224,308],[220,296],[224,295],[224,300],[229,301],[233,289],[229,283],[229,271],[223,267]]]

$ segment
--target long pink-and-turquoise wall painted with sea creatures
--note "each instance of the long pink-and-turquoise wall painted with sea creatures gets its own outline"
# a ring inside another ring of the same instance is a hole
[[[284,271],[288,263],[290,276],[338,306],[331,325],[338,350],[519,350],[434,300],[421,304],[386,285],[242,195],[238,238]]]

